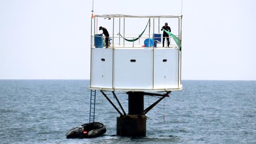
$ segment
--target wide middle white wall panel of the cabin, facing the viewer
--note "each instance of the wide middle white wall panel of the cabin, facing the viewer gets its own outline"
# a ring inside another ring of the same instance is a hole
[[[152,50],[115,49],[114,63],[115,88],[152,89]]]

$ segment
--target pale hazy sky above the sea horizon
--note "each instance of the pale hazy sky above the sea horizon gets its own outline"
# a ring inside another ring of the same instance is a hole
[[[181,2],[94,0],[94,14],[180,15]],[[182,80],[256,80],[255,5],[183,0]],[[0,79],[90,79],[91,10],[92,0],[0,0]]]

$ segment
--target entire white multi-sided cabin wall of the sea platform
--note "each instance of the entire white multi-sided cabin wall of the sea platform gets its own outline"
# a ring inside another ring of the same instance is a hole
[[[112,54],[112,49],[92,49],[90,89],[181,90],[182,85],[178,86],[178,49],[155,49],[154,69],[152,49],[114,49],[114,61]]]

